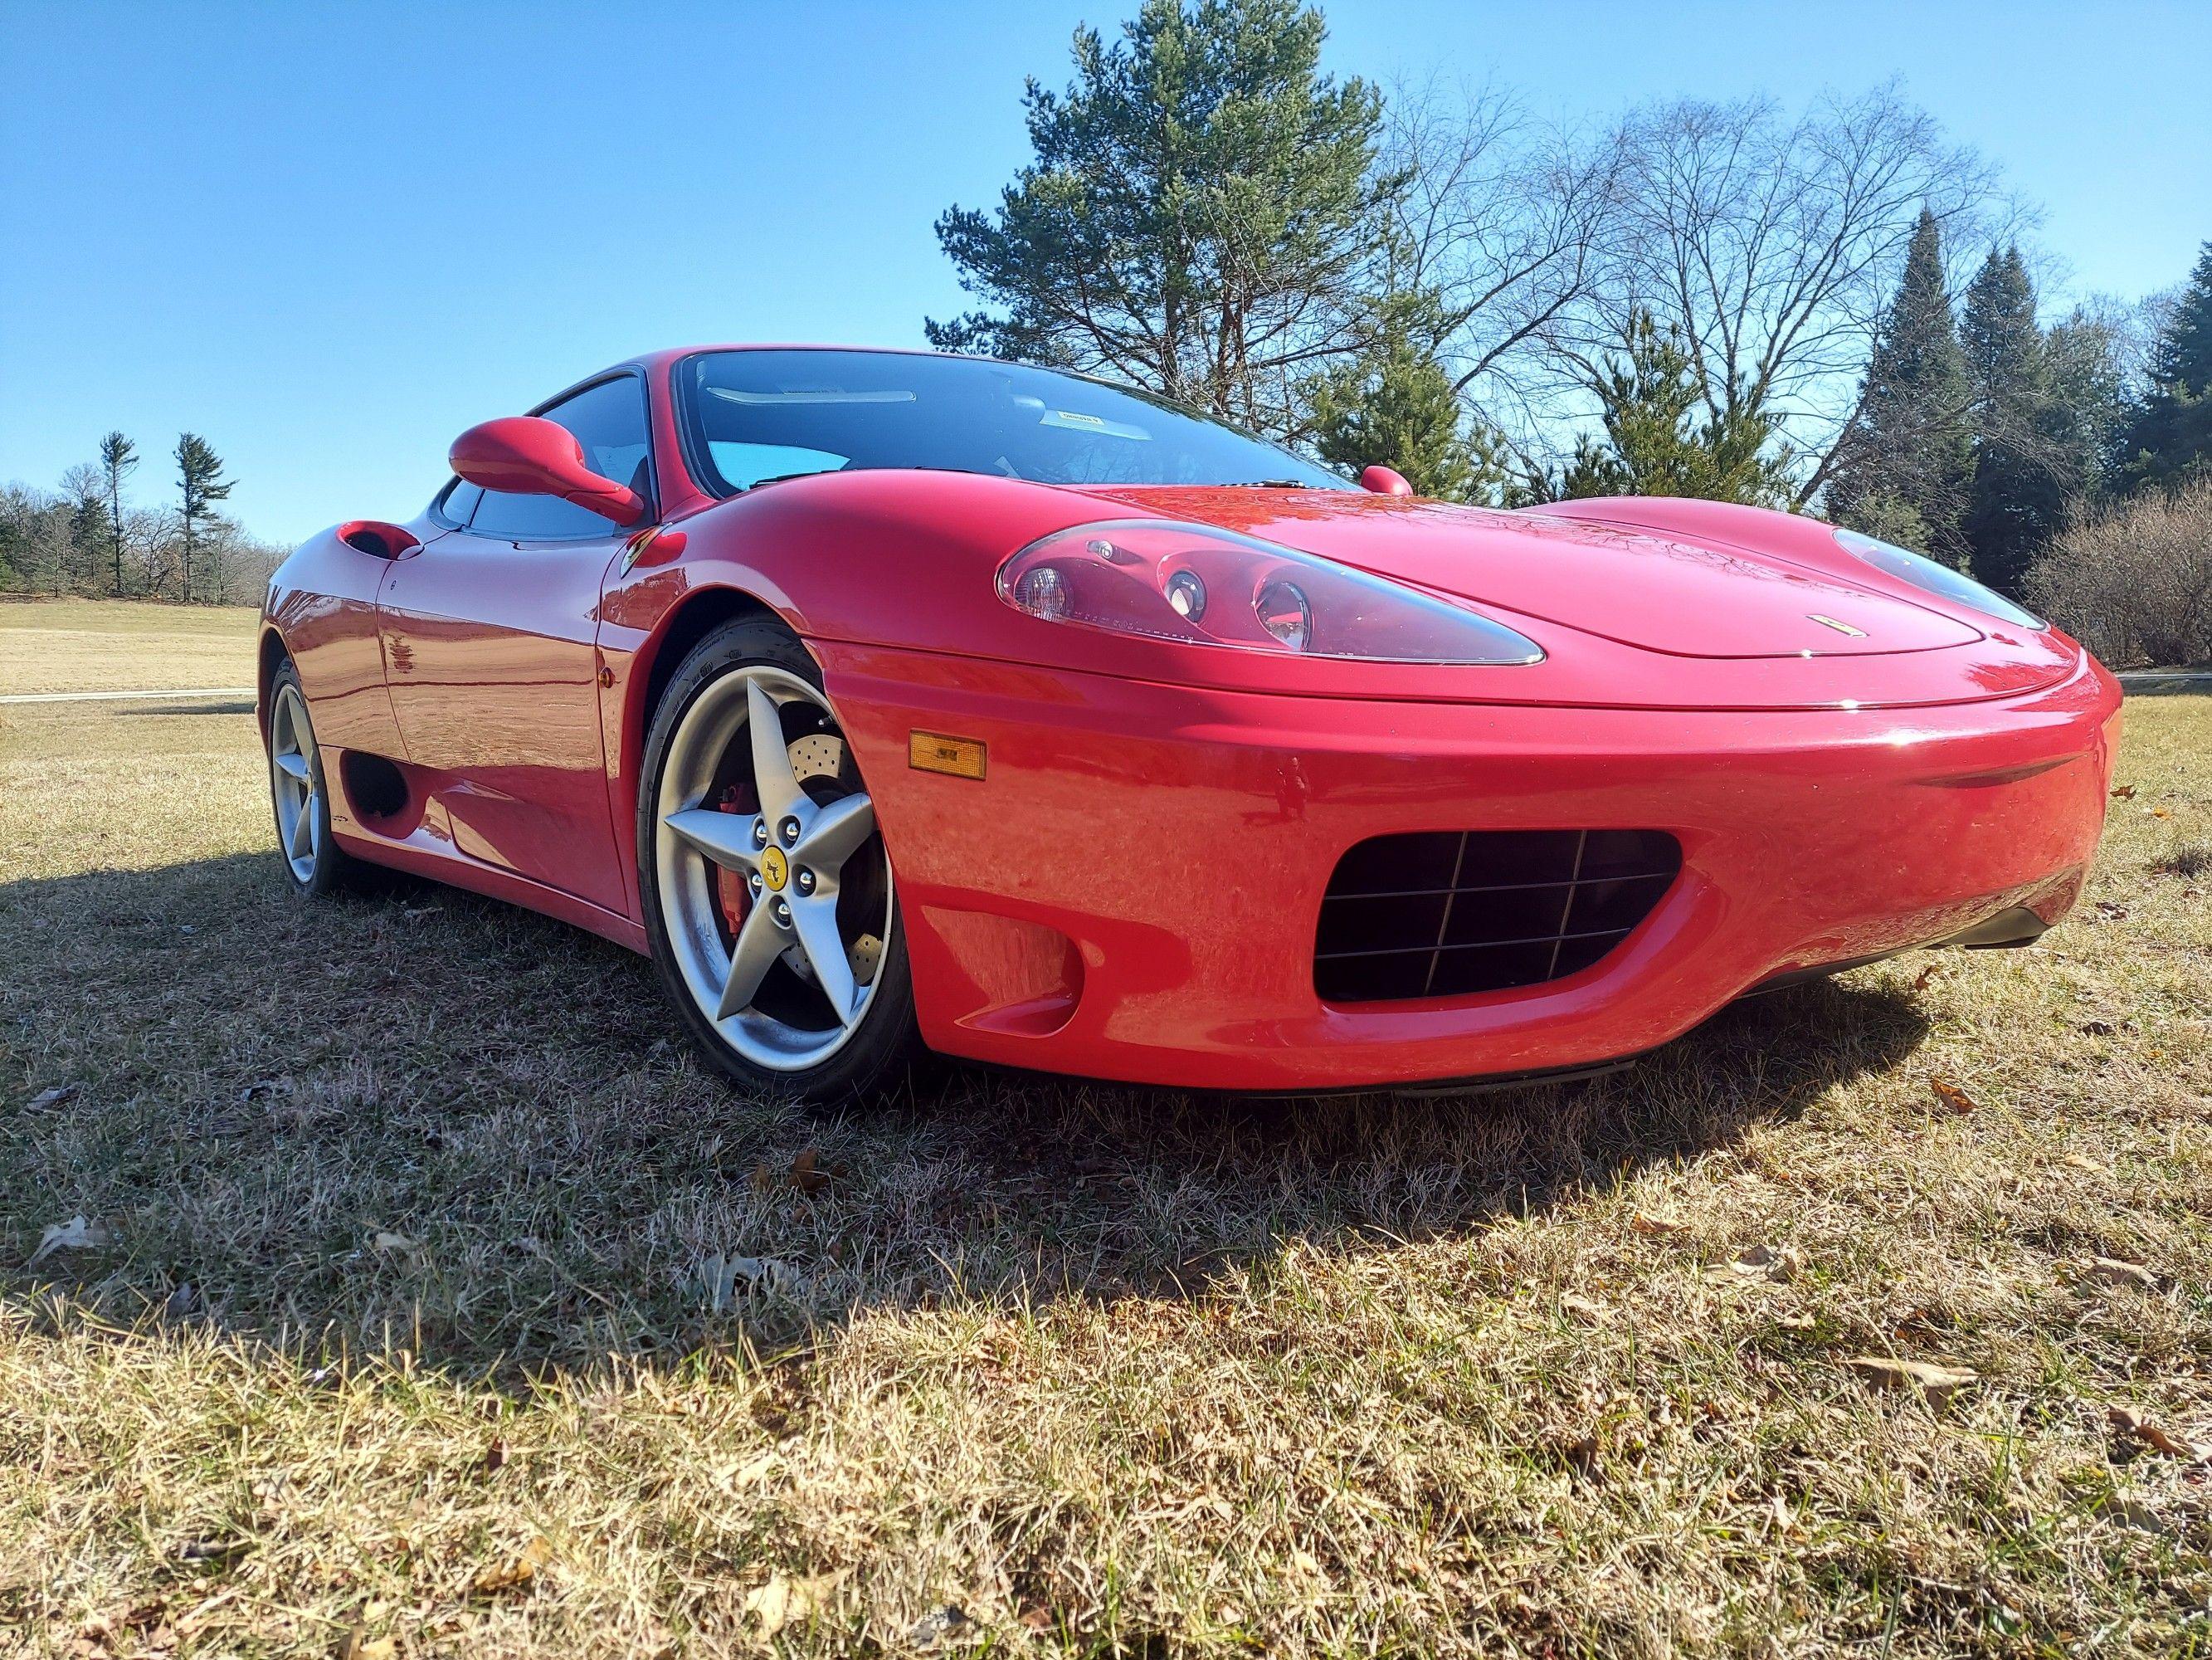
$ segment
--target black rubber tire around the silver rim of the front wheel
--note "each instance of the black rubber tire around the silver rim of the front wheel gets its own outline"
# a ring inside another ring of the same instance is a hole
[[[898,1082],[905,1069],[922,1054],[914,1023],[914,978],[907,967],[905,930],[898,925],[896,892],[887,894],[891,916],[889,938],[885,941],[872,992],[852,1034],[836,1054],[818,1065],[799,1069],[759,1065],[723,1038],[684,978],[684,967],[677,961],[668,932],[659,870],[659,799],[670,748],[684,726],[686,713],[703,693],[741,668],[763,666],[803,679],[821,695],[821,668],[787,629],[768,618],[739,618],[721,624],[690,649],[668,682],[646,733],[644,766],[637,781],[637,894],[661,989],[708,1060],[750,1093],[799,1102],[843,1102],[856,1096],[872,1096]],[[827,699],[823,699],[823,706],[827,708]],[[834,713],[830,719],[834,719]]]

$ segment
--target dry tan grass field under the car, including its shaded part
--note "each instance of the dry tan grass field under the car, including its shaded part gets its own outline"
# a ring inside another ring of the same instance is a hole
[[[1579,1091],[838,1116],[4,715],[0,1651],[2212,1653],[2212,699],[2042,950]]]

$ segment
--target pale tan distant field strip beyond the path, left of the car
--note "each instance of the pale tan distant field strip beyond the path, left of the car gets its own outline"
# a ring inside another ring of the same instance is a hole
[[[0,602],[0,695],[254,684],[252,606]]]

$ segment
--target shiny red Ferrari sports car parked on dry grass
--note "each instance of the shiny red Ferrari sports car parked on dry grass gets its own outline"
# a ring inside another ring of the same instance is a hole
[[[752,1087],[916,1045],[1345,1091],[1604,1067],[2073,905],[2119,688],[1814,518],[1484,511],[1157,398],[697,347],[270,584],[292,879],[646,952]]]

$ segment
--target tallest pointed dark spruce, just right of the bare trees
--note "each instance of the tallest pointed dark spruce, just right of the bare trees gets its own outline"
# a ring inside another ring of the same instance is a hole
[[[1885,540],[1918,525],[1918,547],[1962,567],[1973,476],[1969,405],[1966,359],[1942,281],[1942,230],[1922,208],[1829,480],[1829,516]]]

